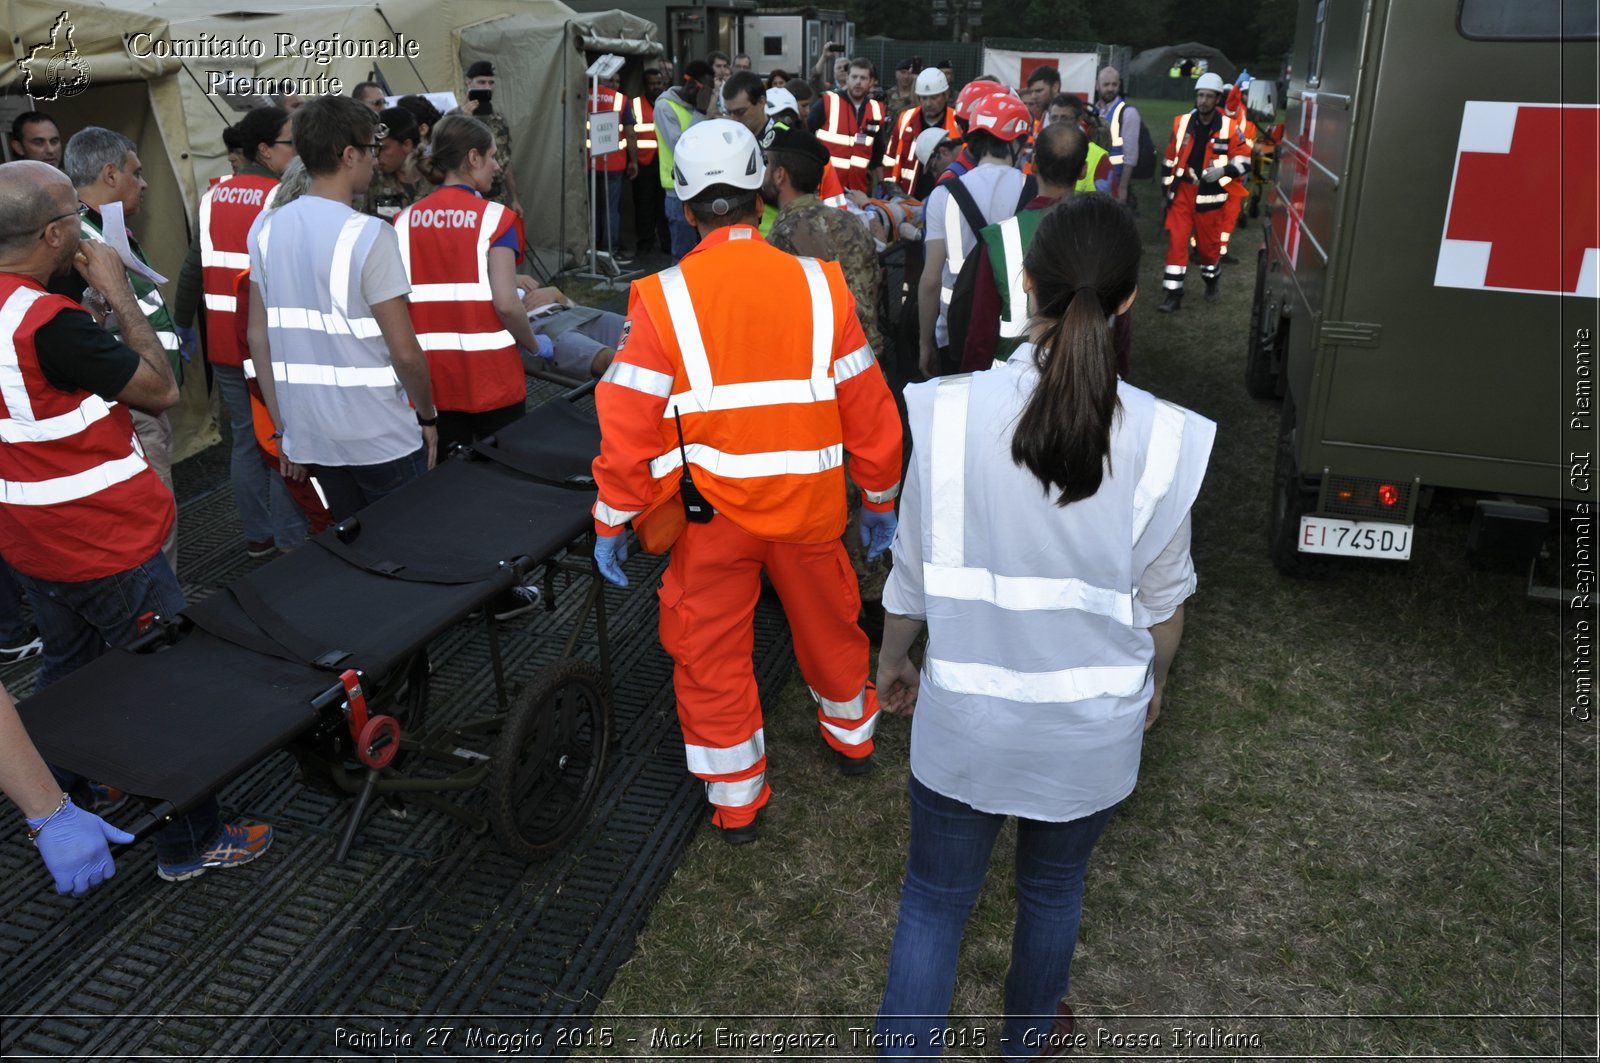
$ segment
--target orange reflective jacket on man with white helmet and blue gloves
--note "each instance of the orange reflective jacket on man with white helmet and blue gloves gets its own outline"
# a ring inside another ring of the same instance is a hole
[[[762,279],[754,301],[750,277]],[[845,274],[779,251],[750,226],[717,229],[675,267],[634,282],[595,408],[600,535],[658,512],[682,522],[685,453],[717,512],[774,543],[843,535],[845,455],[862,506],[883,512],[899,495],[899,415]]]

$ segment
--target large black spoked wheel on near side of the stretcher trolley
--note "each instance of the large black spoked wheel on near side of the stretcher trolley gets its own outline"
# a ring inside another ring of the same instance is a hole
[[[565,660],[541,669],[514,701],[490,764],[490,821],[501,847],[544,860],[589,818],[611,741],[600,669]]]

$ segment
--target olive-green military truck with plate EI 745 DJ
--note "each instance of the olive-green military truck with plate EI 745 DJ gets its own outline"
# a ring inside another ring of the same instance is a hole
[[[1597,5],[1299,8],[1245,362],[1270,557],[1406,560],[1446,495],[1533,556],[1595,498]]]

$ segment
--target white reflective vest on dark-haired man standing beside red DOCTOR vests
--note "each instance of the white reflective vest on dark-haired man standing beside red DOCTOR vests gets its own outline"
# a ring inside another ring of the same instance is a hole
[[[416,453],[422,432],[373,304],[411,291],[381,218],[302,195],[250,229],[290,461],[365,466]]]

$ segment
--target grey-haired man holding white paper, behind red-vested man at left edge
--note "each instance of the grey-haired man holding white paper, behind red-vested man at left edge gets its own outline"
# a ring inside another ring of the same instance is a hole
[[[171,312],[166,309],[166,301],[162,298],[162,290],[157,288],[157,285],[166,283],[166,277],[150,269],[149,259],[126,227],[126,219],[139,213],[146,187],[139,154],[133,141],[114,130],[91,125],[67,141],[67,149],[62,155],[62,170],[72,178],[78,202],[88,207],[88,211],[82,216],[83,239],[107,243],[117,251],[122,264],[126,266],[128,283],[133,287],[139,311],[144,312],[144,320],[150,322],[150,328],[155,330],[155,339],[166,351],[166,360],[173,367],[173,378],[181,386],[184,367],[178,330],[173,325]],[[78,303],[85,301],[86,288],[86,282],[75,271],[56,279],[50,285],[51,291]],[[98,311],[96,315],[104,317],[101,323],[112,335],[120,336],[122,322],[117,320],[115,314],[106,314],[99,309],[104,306],[104,299],[88,296],[88,303],[91,311]],[[133,427],[139,434],[139,445],[144,448],[144,456],[150,461],[150,467],[155,469],[155,475],[162,479],[166,490],[171,490],[171,421],[166,418],[166,413],[146,413],[133,407],[130,407],[130,413],[133,413]],[[173,572],[178,572],[176,519],[173,520],[171,532],[166,535],[166,541],[162,544],[162,554],[166,556]]]

